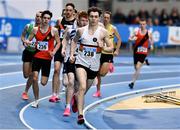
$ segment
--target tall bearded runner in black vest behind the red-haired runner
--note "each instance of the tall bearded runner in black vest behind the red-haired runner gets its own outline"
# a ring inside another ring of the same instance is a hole
[[[74,28],[76,25],[75,23],[75,16],[74,16],[74,10],[75,6],[73,3],[67,3],[65,7],[65,17],[62,19],[59,19],[57,21],[56,27],[58,28],[60,40],[62,41],[64,30],[66,27],[68,28]],[[63,56],[61,55],[62,46],[60,49],[56,52],[54,56],[54,74],[53,74],[53,80],[52,80],[52,96],[50,97],[50,102],[58,102],[60,100],[59,98],[59,89],[60,89],[60,70],[61,65],[64,61]]]

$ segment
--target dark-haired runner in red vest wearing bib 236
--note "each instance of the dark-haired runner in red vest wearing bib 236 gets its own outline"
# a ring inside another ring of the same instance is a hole
[[[60,38],[58,30],[55,27],[49,25],[52,13],[49,10],[45,10],[42,13],[42,23],[39,27],[34,27],[33,32],[29,36],[29,40],[26,41],[26,44],[30,44],[31,40],[36,38],[36,53],[33,58],[32,71],[33,71],[33,93],[35,96],[35,101],[32,104],[32,107],[38,107],[39,99],[39,86],[38,78],[39,71],[41,70],[41,84],[45,86],[48,82],[50,69],[51,69],[51,60],[57,50],[60,47]],[[54,41],[56,41],[56,46],[54,46]]]

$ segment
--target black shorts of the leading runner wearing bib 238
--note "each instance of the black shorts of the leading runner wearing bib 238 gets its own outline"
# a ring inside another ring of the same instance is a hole
[[[76,68],[84,68],[87,73],[87,79],[94,79],[98,75],[98,71],[92,71],[91,69],[89,69],[83,65],[76,64],[75,67]]]

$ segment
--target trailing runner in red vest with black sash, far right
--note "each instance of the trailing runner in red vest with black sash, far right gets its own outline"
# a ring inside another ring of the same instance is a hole
[[[140,70],[148,54],[149,43],[151,44],[151,50],[153,50],[152,34],[146,29],[145,19],[142,18],[140,20],[139,29],[134,31],[133,35],[130,36],[129,41],[135,41],[133,54],[135,73],[132,82],[129,84],[129,88],[133,89],[134,83],[140,74]]]

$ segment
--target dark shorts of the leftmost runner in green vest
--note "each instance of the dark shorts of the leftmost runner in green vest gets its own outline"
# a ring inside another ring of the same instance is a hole
[[[28,51],[24,49],[22,54],[22,61],[23,62],[32,62],[35,52]]]

